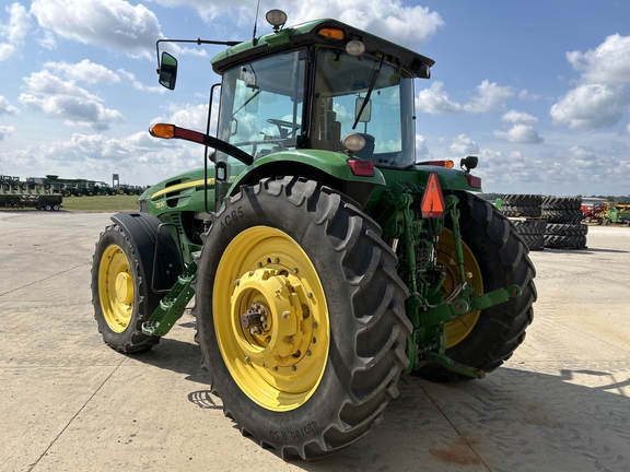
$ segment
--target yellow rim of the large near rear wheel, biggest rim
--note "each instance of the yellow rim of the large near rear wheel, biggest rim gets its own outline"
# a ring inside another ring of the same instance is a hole
[[[330,327],[302,247],[271,227],[244,231],[221,258],[213,294],[217,341],[241,390],[271,411],[306,402],[324,376]]]

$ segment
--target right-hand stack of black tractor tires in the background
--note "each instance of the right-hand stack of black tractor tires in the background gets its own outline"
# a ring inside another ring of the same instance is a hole
[[[585,249],[588,226],[583,225],[582,199],[579,197],[546,197],[541,215],[547,220],[545,247],[552,249]]]

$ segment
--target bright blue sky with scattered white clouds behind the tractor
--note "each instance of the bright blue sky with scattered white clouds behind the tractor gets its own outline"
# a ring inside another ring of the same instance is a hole
[[[417,81],[418,158],[478,155],[486,192],[630,194],[627,0],[261,0],[288,24],[336,17],[435,59]],[[202,149],[151,138],[203,130],[218,46],[252,37],[256,0],[34,0],[0,9],[0,174],[150,185],[202,165]]]

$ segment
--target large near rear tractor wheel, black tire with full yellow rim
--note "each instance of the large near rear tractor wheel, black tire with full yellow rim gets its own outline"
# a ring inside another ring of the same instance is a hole
[[[363,437],[407,366],[406,286],[376,223],[313,180],[243,187],[197,260],[197,341],[211,390],[283,459]]]

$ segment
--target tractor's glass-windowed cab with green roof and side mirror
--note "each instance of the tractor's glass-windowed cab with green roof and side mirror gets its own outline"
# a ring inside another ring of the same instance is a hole
[[[222,75],[217,139],[250,156],[215,148],[217,197],[222,199],[243,164],[267,156],[276,164],[306,153],[377,168],[411,166],[413,79],[428,79],[434,61],[335,20],[282,28],[273,17],[285,15],[272,12],[272,33],[212,59]],[[163,54],[161,84],[175,86],[176,67]]]

